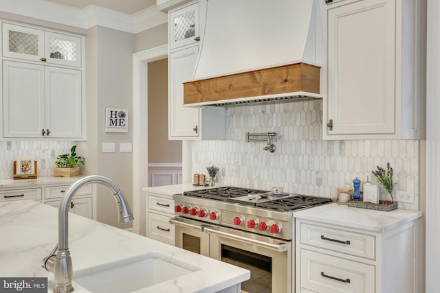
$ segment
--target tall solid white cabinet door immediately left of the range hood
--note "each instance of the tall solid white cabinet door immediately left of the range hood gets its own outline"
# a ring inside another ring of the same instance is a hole
[[[169,72],[169,139],[199,137],[199,109],[186,108],[184,104],[184,84],[192,78],[199,46],[190,47],[170,54]]]

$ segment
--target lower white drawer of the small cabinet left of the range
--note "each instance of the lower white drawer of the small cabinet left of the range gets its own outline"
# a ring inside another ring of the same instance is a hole
[[[168,223],[168,220],[170,220],[170,217],[166,217],[165,215],[148,213],[148,237],[175,245],[175,228],[173,224]]]

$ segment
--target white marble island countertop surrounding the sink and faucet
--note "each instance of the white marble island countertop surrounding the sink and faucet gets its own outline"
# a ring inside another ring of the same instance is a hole
[[[116,215],[115,215],[116,216]],[[58,239],[58,209],[33,200],[0,202],[0,276],[48,277],[41,268]],[[162,253],[200,270],[136,292],[217,292],[250,278],[250,272],[228,263],[69,213],[69,250],[76,270],[145,253]],[[77,293],[88,292],[73,283]]]

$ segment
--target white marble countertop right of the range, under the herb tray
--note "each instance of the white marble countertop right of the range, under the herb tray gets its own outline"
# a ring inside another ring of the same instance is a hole
[[[422,215],[421,211],[395,209],[393,211],[374,211],[349,207],[347,204],[324,204],[311,209],[294,212],[294,218],[312,220],[325,224],[336,224],[350,228],[384,232],[410,222]]]

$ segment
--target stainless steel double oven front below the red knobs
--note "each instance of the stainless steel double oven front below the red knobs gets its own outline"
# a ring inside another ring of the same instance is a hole
[[[251,271],[243,292],[293,292],[292,241],[176,217],[175,244]]]

